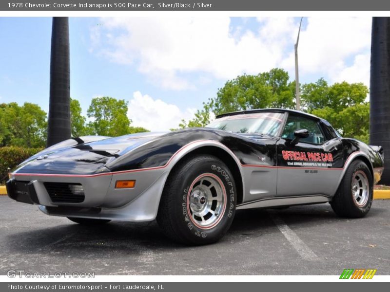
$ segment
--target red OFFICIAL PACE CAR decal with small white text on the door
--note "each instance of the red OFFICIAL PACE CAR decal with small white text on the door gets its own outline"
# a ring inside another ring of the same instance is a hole
[[[283,159],[289,166],[332,166],[333,155],[320,152],[282,151]]]

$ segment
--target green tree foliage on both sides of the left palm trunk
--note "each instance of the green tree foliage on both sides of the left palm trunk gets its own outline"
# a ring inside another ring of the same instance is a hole
[[[130,126],[127,117],[127,102],[113,97],[94,98],[88,109],[86,123],[78,100],[70,102],[72,137],[84,135],[120,136],[149,132],[142,127]],[[47,137],[47,114],[38,105],[16,102],[0,104],[0,147],[20,146],[28,148],[44,147]]]

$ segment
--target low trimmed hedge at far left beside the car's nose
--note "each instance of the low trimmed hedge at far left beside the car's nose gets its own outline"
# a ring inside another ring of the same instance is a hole
[[[42,148],[0,147],[0,183],[7,179],[8,172]]]

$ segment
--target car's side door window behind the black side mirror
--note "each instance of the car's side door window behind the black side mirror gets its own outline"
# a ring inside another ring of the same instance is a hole
[[[309,131],[309,137],[301,139],[300,142],[322,144],[326,140],[318,122],[312,119],[292,115],[289,115],[287,119],[282,138],[294,139],[294,131],[297,129],[307,129]]]

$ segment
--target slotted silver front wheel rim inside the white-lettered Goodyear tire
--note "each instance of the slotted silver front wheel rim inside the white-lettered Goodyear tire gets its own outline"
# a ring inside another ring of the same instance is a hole
[[[187,195],[189,217],[201,229],[214,227],[226,209],[226,190],[222,181],[212,173],[198,176]]]

